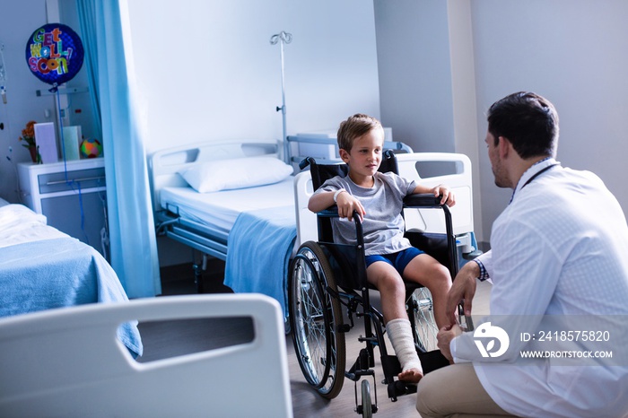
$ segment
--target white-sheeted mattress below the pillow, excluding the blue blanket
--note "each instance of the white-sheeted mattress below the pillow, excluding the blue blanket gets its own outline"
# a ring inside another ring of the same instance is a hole
[[[258,209],[294,205],[294,178],[262,187],[198,193],[192,187],[164,187],[160,204],[182,218],[229,233],[238,215]]]

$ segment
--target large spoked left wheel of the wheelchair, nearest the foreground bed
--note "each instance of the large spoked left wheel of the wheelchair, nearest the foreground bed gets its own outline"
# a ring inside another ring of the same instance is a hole
[[[345,381],[345,334],[336,280],[318,243],[305,242],[292,260],[289,309],[294,351],[305,379],[321,396],[332,399]]]

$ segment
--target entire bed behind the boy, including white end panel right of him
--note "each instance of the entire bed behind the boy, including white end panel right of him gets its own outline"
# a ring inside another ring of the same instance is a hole
[[[336,143],[305,136],[289,137],[289,141],[326,147]],[[292,175],[292,170],[283,170],[279,163],[259,165],[260,158],[281,161],[278,145],[264,141],[181,145],[154,152],[149,167],[157,234],[225,260],[227,286],[234,292],[271,296],[286,315],[289,260],[301,243],[316,240],[318,235],[316,215],[307,208],[312,194],[309,172]],[[452,217],[463,256],[459,259],[464,260],[464,254],[476,248],[467,156],[414,153],[406,145],[393,142],[385,147],[401,152],[398,162],[402,176],[428,186],[446,183],[456,193],[458,203],[452,208]],[[328,157],[333,161],[334,155]],[[286,160],[300,161],[301,156],[291,155]],[[422,164],[427,166],[425,170],[419,168]],[[434,164],[438,167],[432,167]],[[266,179],[258,179],[261,177]],[[225,182],[231,184],[222,187]],[[440,233],[444,222],[438,216],[409,210],[406,222],[409,228]],[[200,268],[195,266],[195,270]],[[196,281],[201,283],[200,277]]]

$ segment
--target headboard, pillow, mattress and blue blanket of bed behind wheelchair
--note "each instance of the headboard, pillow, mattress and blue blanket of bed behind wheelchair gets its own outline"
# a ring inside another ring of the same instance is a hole
[[[264,293],[285,309],[283,264],[296,231],[293,170],[279,158],[278,144],[178,146],[155,152],[149,166],[157,235],[200,251],[204,260],[225,261],[225,285]],[[195,272],[200,285],[201,267]]]

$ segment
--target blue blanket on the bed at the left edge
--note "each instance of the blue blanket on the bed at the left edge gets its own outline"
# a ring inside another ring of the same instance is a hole
[[[0,248],[0,317],[127,300],[109,263],[78,239],[42,239]],[[118,338],[132,353],[142,355],[136,325],[122,324]]]

